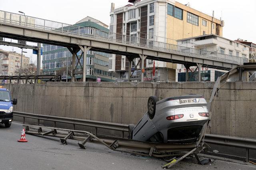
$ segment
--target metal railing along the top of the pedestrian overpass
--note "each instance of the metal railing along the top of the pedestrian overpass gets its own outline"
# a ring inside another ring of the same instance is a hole
[[[1,10],[0,10],[0,22],[18,24],[22,26],[39,28],[39,29],[48,30],[48,31],[50,30],[54,32],[61,32],[61,33],[71,34],[76,36],[107,40],[110,42],[136,45],[137,47],[146,47],[149,49],[175,52],[175,53],[179,53],[180,55],[188,55],[191,57],[200,57],[203,59],[210,58],[210,59],[214,59],[214,60],[218,60],[226,63],[242,64],[242,63],[248,62],[248,59],[243,57],[225,55],[225,54],[220,54],[212,51],[203,51],[202,53],[202,50],[200,49],[183,47],[183,46],[164,43],[164,42],[157,42],[154,40],[147,40],[144,38],[137,38],[134,36],[126,36],[122,34],[97,30],[94,28],[86,28],[78,25],[64,24],[60,22],[44,20],[41,18],[35,18],[31,16],[24,16],[21,14],[15,14],[15,13],[1,11]]]

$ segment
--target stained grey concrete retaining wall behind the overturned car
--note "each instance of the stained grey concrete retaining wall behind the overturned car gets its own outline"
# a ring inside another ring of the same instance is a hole
[[[188,94],[210,99],[214,83],[47,83],[6,84],[15,111],[136,124],[147,111],[151,95],[161,99]],[[256,83],[228,82],[218,91],[210,133],[256,136]]]

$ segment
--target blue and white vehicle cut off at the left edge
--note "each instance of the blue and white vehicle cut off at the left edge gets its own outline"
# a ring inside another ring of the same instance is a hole
[[[12,125],[13,105],[17,104],[17,99],[11,99],[10,91],[0,86],[0,123],[6,128]]]

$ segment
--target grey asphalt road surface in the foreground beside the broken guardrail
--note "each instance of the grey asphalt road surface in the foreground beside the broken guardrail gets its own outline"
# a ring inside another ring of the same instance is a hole
[[[10,128],[0,125],[0,170],[136,170],[161,169],[163,160],[134,156],[112,151],[99,144],[86,144],[86,150],[78,147],[76,141],[68,140],[62,145],[58,138],[43,138],[26,135],[28,142],[19,143],[22,125],[12,123]],[[252,164],[213,160],[208,165],[196,164],[195,158],[185,159],[172,169],[256,169]]]

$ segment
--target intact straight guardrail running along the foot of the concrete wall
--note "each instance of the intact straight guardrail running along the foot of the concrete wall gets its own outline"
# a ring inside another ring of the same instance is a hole
[[[94,127],[95,134],[98,133],[98,128],[116,130],[122,132],[122,138],[124,138],[124,132],[128,132],[128,125],[109,123],[101,121],[91,121],[86,119],[76,119],[68,117],[58,117],[50,115],[37,115],[32,113],[16,112],[14,111],[14,116],[23,117],[23,124],[25,124],[25,118],[37,119],[37,125],[40,125],[40,120],[42,121],[52,121],[54,123],[54,128],[56,128],[56,123],[67,123],[73,125],[73,130],[75,130],[75,125],[82,125],[87,127]],[[249,161],[249,150],[256,150],[256,140],[249,138],[238,138],[231,136],[222,136],[216,134],[205,134],[204,141],[211,144],[232,146],[237,148],[246,149],[246,162]]]

